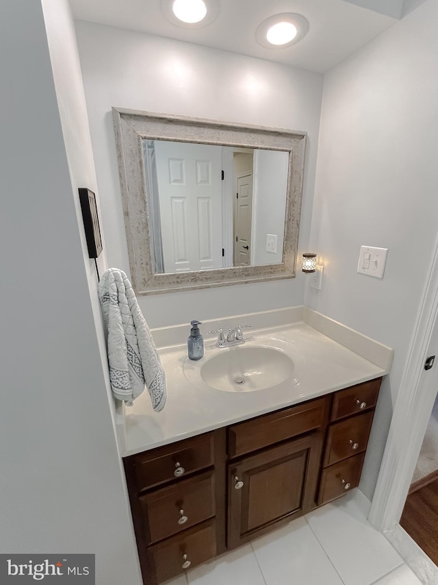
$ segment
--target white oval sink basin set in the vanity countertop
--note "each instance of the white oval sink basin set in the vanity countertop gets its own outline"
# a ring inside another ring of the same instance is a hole
[[[254,392],[283,382],[298,384],[305,370],[300,352],[281,340],[253,338],[250,343],[211,349],[199,362],[186,360],[185,377],[192,383],[225,392]]]

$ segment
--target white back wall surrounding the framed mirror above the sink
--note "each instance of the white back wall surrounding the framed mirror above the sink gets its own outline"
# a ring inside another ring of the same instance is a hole
[[[77,22],[108,262],[129,272],[111,107],[305,130],[300,251],[307,251],[322,75],[190,43]],[[296,279],[140,299],[149,325],[302,304]]]

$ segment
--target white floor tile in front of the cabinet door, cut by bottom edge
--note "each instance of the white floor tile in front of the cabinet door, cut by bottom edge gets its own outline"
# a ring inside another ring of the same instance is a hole
[[[304,518],[251,544],[266,585],[343,585]]]

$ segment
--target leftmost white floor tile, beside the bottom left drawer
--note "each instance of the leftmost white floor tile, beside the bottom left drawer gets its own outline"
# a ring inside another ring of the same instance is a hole
[[[187,577],[190,585],[265,585],[250,545],[195,567]]]

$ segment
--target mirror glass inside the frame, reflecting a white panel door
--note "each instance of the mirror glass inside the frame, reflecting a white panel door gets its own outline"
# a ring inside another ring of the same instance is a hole
[[[283,262],[288,151],[142,146],[155,273]]]

